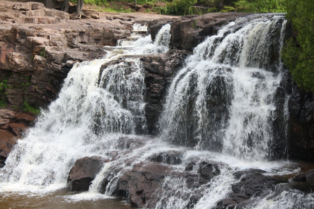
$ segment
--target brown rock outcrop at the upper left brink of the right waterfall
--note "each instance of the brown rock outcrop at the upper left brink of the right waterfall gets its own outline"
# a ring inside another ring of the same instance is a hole
[[[201,16],[188,15],[178,18],[171,24],[172,48],[192,51],[206,36],[216,34],[222,25],[249,14],[236,12],[207,13]]]

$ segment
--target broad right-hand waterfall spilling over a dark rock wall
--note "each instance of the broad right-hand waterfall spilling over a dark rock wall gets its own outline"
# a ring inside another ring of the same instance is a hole
[[[284,141],[273,123],[286,118],[276,102],[285,24],[284,14],[251,15],[199,44],[168,90],[160,138],[243,159],[285,157],[273,151]]]

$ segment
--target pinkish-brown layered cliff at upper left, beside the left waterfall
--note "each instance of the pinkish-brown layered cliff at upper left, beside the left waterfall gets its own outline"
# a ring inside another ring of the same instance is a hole
[[[68,13],[41,3],[0,1],[0,10],[0,82],[6,80],[7,103],[16,106],[47,105],[73,63],[102,56],[99,46],[115,45],[129,36],[126,27],[132,25],[69,20]]]

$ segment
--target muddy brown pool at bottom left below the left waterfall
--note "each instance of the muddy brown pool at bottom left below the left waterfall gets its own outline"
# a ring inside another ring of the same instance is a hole
[[[79,195],[84,197],[84,192],[69,192],[66,189],[34,194],[20,192],[3,192],[0,194],[1,209],[127,209],[132,208],[121,198],[108,197],[108,199],[72,199],[71,196]],[[86,196],[88,196],[86,194]]]

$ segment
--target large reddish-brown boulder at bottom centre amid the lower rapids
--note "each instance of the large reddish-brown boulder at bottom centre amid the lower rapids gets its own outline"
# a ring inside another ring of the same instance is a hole
[[[127,198],[131,206],[143,207],[150,199],[158,198],[154,192],[170,171],[170,167],[159,163],[139,163],[119,178],[114,194]]]

